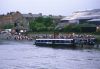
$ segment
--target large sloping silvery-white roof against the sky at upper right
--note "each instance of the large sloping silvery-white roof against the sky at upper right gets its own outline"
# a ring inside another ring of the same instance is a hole
[[[100,19],[100,9],[78,11],[61,20]]]

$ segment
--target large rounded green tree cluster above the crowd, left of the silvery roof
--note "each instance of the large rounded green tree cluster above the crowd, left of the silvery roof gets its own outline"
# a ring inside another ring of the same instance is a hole
[[[32,31],[51,31],[54,29],[55,24],[50,17],[38,17],[36,20],[32,20],[29,23]]]

